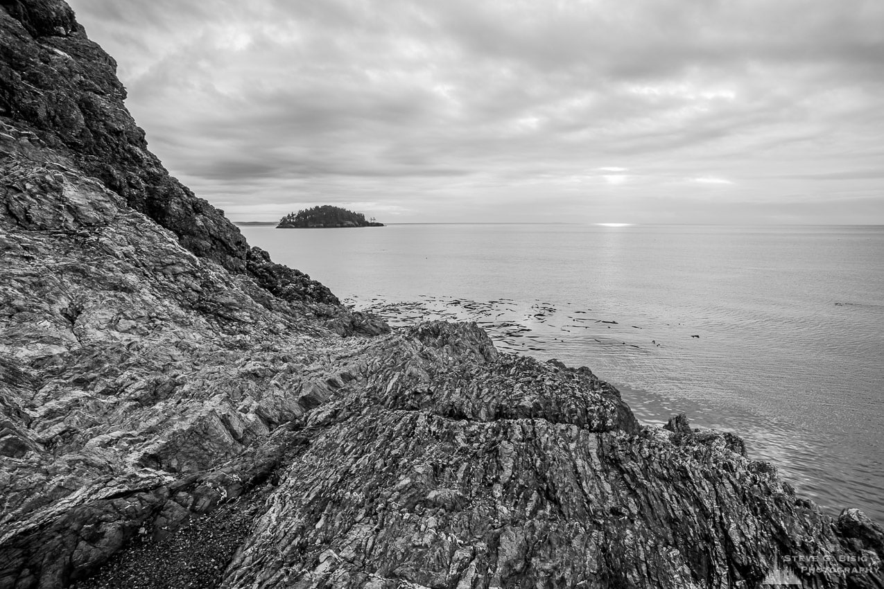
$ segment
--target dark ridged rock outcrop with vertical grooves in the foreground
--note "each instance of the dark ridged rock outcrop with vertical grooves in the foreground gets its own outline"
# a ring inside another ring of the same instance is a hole
[[[389,361],[310,414],[223,586],[754,587],[783,555],[865,549],[726,436],[638,427],[614,389],[498,356],[478,331],[372,344]]]

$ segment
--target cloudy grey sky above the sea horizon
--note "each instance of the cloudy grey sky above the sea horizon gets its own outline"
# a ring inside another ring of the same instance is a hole
[[[234,221],[884,223],[880,0],[69,0]]]

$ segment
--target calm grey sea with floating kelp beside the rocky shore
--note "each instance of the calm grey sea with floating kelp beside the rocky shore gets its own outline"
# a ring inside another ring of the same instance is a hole
[[[884,227],[241,230],[354,306],[589,366],[644,422],[733,431],[804,496],[884,524]]]

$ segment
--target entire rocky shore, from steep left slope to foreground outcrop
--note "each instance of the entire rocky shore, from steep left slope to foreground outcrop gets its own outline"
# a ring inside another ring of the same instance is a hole
[[[60,0],[0,3],[0,80],[0,588],[884,586],[737,436],[248,247]]]

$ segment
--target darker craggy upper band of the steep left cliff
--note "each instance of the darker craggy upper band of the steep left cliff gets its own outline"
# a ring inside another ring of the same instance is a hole
[[[3,0],[0,6],[0,116],[6,124],[33,132],[42,148],[100,180],[202,259],[252,277],[278,298],[340,308],[323,284],[249,247],[222,211],[169,175],[123,104],[126,89],[116,62],[88,40],[67,4]],[[351,320],[332,314],[340,325]],[[384,329],[370,331],[376,328]]]

